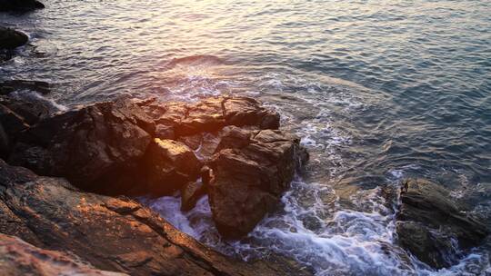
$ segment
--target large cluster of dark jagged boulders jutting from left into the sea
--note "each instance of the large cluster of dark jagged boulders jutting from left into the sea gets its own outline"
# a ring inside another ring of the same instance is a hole
[[[9,163],[65,177],[88,192],[181,192],[183,210],[208,193],[228,238],[252,231],[276,208],[308,157],[296,137],[276,129],[279,115],[250,98],[120,99],[29,120],[15,103],[0,113],[2,125],[15,125],[2,139]],[[204,173],[205,165],[211,170]]]

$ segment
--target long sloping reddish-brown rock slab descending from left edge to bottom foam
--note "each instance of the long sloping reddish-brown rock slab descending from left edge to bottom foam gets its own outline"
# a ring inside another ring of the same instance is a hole
[[[138,202],[80,192],[0,161],[0,232],[95,268],[131,275],[302,275],[286,263],[231,260]],[[8,255],[7,255],[8,257]]]

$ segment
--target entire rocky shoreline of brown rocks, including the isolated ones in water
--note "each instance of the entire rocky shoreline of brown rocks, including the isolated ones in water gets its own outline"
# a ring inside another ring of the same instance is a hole
[[[15,8],[14,2],[0,0],[0,11],[42,7],[32,1]],[[22,33],[0,28],[0,48],[26,42]],[[279,113],[237,96],[197,103],[119,98],[54,111],[18,96],[21,90],[49,94],[50,85],[0,82],[0,271],[314,273],[287,256],[234,260],[135,201],[179,194],[181,210],[189,211],[207,195],[221,236],[245,237],[281,208],[309,159],[298,137],[280,129]],[[486,226],[440,185],[407,179],[401,186],[388,200],[396,209],[396,242],[419,261],[446,268],[486,239]]]

